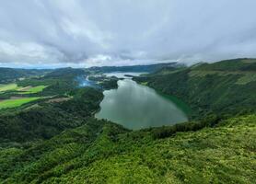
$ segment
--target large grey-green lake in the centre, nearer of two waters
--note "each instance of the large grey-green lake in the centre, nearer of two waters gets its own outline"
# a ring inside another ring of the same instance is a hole
[[[98,119],[122,124],[128,129],[172,125],[188,121],[184,103],[167,98],[153,88],[131,79],[118,81],[118,88],[103,92]]]

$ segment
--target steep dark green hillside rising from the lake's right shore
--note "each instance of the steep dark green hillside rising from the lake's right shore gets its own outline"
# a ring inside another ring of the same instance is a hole
[[[183,99],[191,105],[193,117],[211,112],[232,115],[256,110],[255,65],[253,59],[203,63],[135,80]]]

